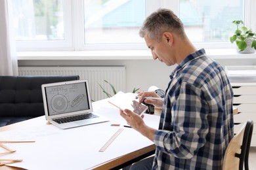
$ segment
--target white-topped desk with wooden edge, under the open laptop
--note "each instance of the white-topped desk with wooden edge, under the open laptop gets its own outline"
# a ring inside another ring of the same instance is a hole
[[[110,169],[154,152],[154,143],[134,129],[110,126],[126,122],[106,99],[93,103],[93,109],[110,122],[63,130],[47,124],[41,116],[1,127],[0,140],[35,140],[35,143],[6,144],[16,152],[2,155],[0,159],[22,159],[10,165],[25,169]],[[144,121],[158,128],[159,116],[145,114]],[[124,128],[121,134],[104,152],[98,152],[119,128]]]

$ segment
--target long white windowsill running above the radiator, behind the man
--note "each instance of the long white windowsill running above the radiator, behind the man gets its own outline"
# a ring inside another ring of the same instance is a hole
[[[255,54],[238,54],[234,48],[205,49],[214,59],[256,59]],[[152,59],[150,50],[98,50],[98,51],[48,51],[17,52],[18,60],[102,60],[102,59]]]

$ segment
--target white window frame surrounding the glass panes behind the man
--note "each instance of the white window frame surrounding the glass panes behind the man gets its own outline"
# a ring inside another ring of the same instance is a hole
[[[16,41],[18,51],[87,51],[87,50],[147,50],[145,43],[134,44],[85,44],[83,31],[83,0],[63,1],[64,41]],[[147,0],[146,15],[160,7],[179,15],[179,0]],[[256,2],[245,0],[245,25],[256,30]],[[139,30],[138,30],[139,31]],[[139,36],[139,35],[138,35]],[[197,48],[233,48],[230,42],[193,42]]]

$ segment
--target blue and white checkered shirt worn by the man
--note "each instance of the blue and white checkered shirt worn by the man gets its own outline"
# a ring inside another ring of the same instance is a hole
[[[202,49],[170,78],[154,135],[153,169],[222,169],[234,137],[233,92],[223,67]]]

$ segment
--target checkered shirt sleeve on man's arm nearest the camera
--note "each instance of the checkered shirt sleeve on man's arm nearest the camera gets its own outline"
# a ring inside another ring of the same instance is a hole
[[[176,92],[175,103],[171,103],[173,131],[165,129],[156,131],[154,143],[159,150],[171,153],[177,158],[189,159],[205,144],[208,133],[208,105],[202,88],[182,82]],[[168,97],[169,98],[169,97]],[[172,101],[171,101],[172,102]],[[169,109],[168,109],[169,110]]]

